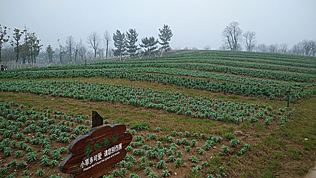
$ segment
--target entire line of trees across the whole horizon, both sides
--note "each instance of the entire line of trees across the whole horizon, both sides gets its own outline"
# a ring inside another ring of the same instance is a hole
[[[98,57],[108,58],[109,56],[122,57],[135,57],[142,58],[143,55],[157,56],[157,52],[161,52],[160,56],[167,53],[170,48],[170,40],[173,37],[173,33],[168,25],[163,25],[159,28],[158,38],[154,36],[141,38],[141,43],[136,44],[138,41],[138,33],[136,29],[130,28],[126,32],[121,32],[117,29],[112,35],[105,31],[102,36],[97,32],[92,32],[87,37],[87,40],[80,39],[78,42],[74,40],[72,36],[66,38],[65,43],[58,39],[58,47],[53,47],[48,44],[44,50],[40,39],[38,39],[35,32],[31,32],[26,26],[23,30],[14,28],[13,36],[10,39],[8,36],[10,28],[2,26],[0,24],[0,61],[11,61],[10,64],[14,65],[14,68],[22,67],[34,67],[37,61],[37,57],[42,60],[43,63],[48,65],[53,64],[76,64],[87,63],[93,58]],[[239,23],[233,21],[227,25],[222,31],[223,44],[220,46],[221,50],[246,50],[256,52],[271,52],[271,53],[289,53],[296,55],[310,55],[315,56],[316,41],[303,40],[295,44],[292,48],[286,43],[282,44],[257,44],[256,33],[254,31],[246,31],[239,27]],[[113,41],[114,49],[109,49],[110,43]],[[9,46],[4,48],[4,45],[9,42]],[[104,45],[104,48],[102,46]],[[160,48],[158,48],[160,44]],[[88,45],[91,50],[86,46]],[[244,47],[244,48],[243,48]],[[142,51],[141,49],[145,49]],[[206,50],[210,49],[210,46],[204,47]],[[179,47],[180,49],[180,47]],[[187,47],[185,49],[188,49]],[[192,49],[197,49],[193,47]],[[104,54],[105,52],[105,54]],[[159,54],[158,54],[159,56]],[[78,62],[80,60],[80,62]],[[14,63],[13,63],[14,62]],[[20,65],[19,65],[20,64]],[[12,68],[12,67],[11,67]]]

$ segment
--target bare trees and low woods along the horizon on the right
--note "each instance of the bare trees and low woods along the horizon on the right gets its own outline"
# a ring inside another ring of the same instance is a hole
[[[286,43],[282,44],[257,44],[256,33],[254,31],[246,31],[243,33],[239,27],[239,23],[233,21],[227,25],[222,31],[223,44],[220,46],[221,50],[242,50],[244,45],[245,50],[252,52],[271,52],[271,53],[289,53],[296,55],[310,55],[315,56],[316,41],[303,40],[294,44],[292,48]],[[208,46],[205,47],[209,48]]]

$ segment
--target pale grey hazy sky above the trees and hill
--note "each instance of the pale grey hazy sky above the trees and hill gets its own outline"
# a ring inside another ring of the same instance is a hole
[[[129,28],[136,28],[140,42],[146,36],[158,38],[158,28],[168,24],[174,34],[171,47],[218,49],[231,21],[238,21],[244,32],[255,31],[258,43],[291,47],[316,39],[316,0],[0,0],[0,24],[11,32],[26,25],[53,48],[57,39],[65,43],[70,35],[87,41],[92,31],[102,35]]]

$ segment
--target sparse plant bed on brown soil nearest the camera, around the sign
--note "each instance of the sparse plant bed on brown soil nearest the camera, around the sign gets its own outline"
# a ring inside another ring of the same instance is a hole
[[[149,127],[143,123],[127,123],[126,131],[134,135],[126,147],[128,154],[105,177],[128,174],[130,177],[168,177],[173,173],[170,170],[182,167],[201,176],[225,177],[229,156],[242,156],[250,148],[249,144],[242,143],[230,132],[214,136],[174,131],[168,135],[159,127],[149,132]],[[0,154],[4,154],[4,164],[9,165],[0,169],[1,175],[60,177],[48,175],[48,170],[58,171],[60,162],[69,154],[66,147],[70,141],[80,134],[87,134],[84,131],[87,128],[91,128],[88,116],[49,109],[37,111],[35,107],[16,102],[0,102]],[[70,139],[60,141],[59,137]],[[38,168],[37,172],[30,172],[29,169],[34,166]]]

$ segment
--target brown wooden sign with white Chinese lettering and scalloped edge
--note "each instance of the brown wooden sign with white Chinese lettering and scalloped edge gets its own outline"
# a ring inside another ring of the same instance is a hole
[[[126,146],[132,141],[132,135],[125,132],[126,126],[111,126],[97,122],[101,117],[93,112],[93,127],[88,135],[83,135],[69,145],[71,154],[61,163],[60,170],[72,174],[72,177],[90,178],[106,174],[114,164],[126,156]],[[96,124],[99,123],[99,124]]]

